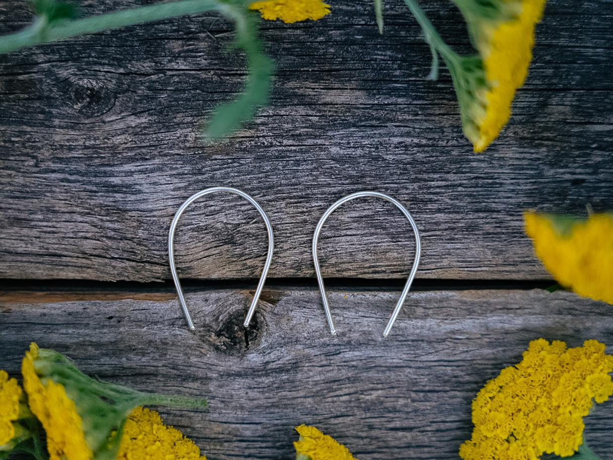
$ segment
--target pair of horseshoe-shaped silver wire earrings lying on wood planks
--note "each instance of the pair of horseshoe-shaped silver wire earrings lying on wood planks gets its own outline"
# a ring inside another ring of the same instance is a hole
[[[266,215],[264,209],[262,209],[261,205],[259,205],[259,203],[255,199],[253,199],[253,197],[249,196],[243,191],[240,191],[232,187],[211,187],[211,188],[207,188],[205,190],[199,191],[198,193],[194,193],[192,196],[186,199],[186,201],[183,202],[183,204],[181,204],[181,206],[177,210],[177,213],[175,213],[175,217],[173,217],[172,219],[172,223],[170,223],[170,231],[168,235],[168,258],[170,261],[170,272],[172,272],[172,279],[175,282],[175,287],[177,288],[177,294],[179,297],[179,302],[181,304],[181,309],[183,309],[183,313],[185,314],[185,319],[188,321],[189,329],[191,329],[192,331],[195,329],[194,322],[192,321],[191,315],[189,314],[187,304],[185,303],[185,296],[183,295],[183,288],[181,288],[181,282],[179,281],[179,277],[177,275],[177,267],[175,266],[175,254],[174,254],[175,230],[177,229],[177,224],[178,224],[178,221],[181,215],[187,209],[187,207],[190,204],[192,204],[192,202],[196,201],[200,197],[203,197],[205,195],[215,193],[218,191],[225,191],[225,192],[232,193],[232,194],[242,196],[243,198],[245,198],[249,203],[251,203],[257,209],[257,212],[260,213],[260,215],[262,216],[262,219],[264,219],[264,223],[266,224],[266,230],[268,232],[268,253],[266,256],[266,262],[264,263],[264,270],[262,270],[262,275],[260,277],[260,280],[257,283],[256,293],[253,296],[253,300],[251,301],[251,305],[249,306],[249,310],[245,317],[245,322],[243,323],[245,327],[249,326],[249,323],[251,323],[251,318],[253,318],[253,314],[256,311],[257,301],[260,298],[262,289],[264,289],[264,282],[266,281],[266,276],[268,275],[268,269],[270,269],[270,264],[272,263],[272,256],[273,256],[273,251],[275,247],[275,239],[273,236],[272,225],[270,224],[270,220],[268,220],[268,216]],[[324,311],[326,312],[326,319],[328,321],[328,326],[330,327],[330,332],[332,333],[332,335],[336,335],[337,330],[334,327],[334,322],[332,320],[332,313],[330,313],[330,304],[328,302],[326,288],[324,287],[324,278],[321,275],[321,267],[319,266],[319,258],[318,258],[318,252],[317,252],[319,233],[321,232],[321,228],[324,226],[324,223],[326,223],[327,218],[330,217],[330,214],[332,214],[335,209],[337,209],[342,204],[348,201],[351,201],[356,198],[361,198],[361,197],[382,198],[394,204],[398,209],[400,209],[403,215],[405,215],[406,219],[411,224],[411,228],[413,229],[413,233],[415,235],[415,260],[413,261],[413,267],[411,267],[411,273],[409,274],[409,277],[406,280],[405,287],[402,290],[402,294],[400,294],[400,299],[398,299],[394,312],[392,313],[392,316],[389,318],[385,331],[383,332],[384,337],[387,337],[390,330],[392,329],[392,326],[394,326],[394,322],[396,321],[396,318],[398,318],[398,314],[400,313],[400,310],[402,309],[402,305],[405,303],[406,296],[408,296],[409,294],[409,289],[411,289],[413,278],[415,278],[415,274],[417,273],[417,267],[419,266],[419,258],[421,256],[421,239],[419,237],[419,231],[417,230],[417,225],[415,221],[413,220],[413,217],[411,217],[411,213],[408,212],[408,210],[402,205],[402,203],[400,203],[399,201],[397,201],[396,199],[392,198],[389,195],[386,195],[384,193],[375,192],[375,191],[360,191],[360,192],[352,193],[348,196],[341,198],[337,202],[335,202],[332,206],[330,206],[327,209],[324,215],[322,215],[321,219],[319,219],[317,226],[315,227],[315,232],[313,234],[313,246],[312,246],[313,264],[315,266],[315,274],[317,276],[317,282],[319,285],[319,293],[321,293],[321,299],[324,304]]]

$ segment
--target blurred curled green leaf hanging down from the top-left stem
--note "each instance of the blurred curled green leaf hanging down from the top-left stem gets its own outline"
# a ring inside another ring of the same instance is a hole
[[[240,128],[245,121],[253,118],[257,107],[268,102],[273,72],[272,61],[264,55],[262,43],[257,39],[256,15],[245,6],[227,4],[220,10],[236,23],[235,46],[245,52],[249,73],[243,93],[235,101],[215,109],[204,130],[204,135],[210,140]]]

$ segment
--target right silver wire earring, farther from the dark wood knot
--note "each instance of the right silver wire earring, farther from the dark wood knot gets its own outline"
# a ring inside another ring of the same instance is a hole
[[[394,326],[394,322],[396,321],[396,318],[398,318],[398,313],[400,313],[400,310],[402,309],[402,305],[405,303],[406,296],[408,296],[409,294],[409,289],[411,289],[413,278],[415,278],[415,274],[417,273],[417,267],[419,266],[419,258],[421,256],[421,239],[419,238],[419,231],[417,230],[417,225],[415,221],[413,220],[413,217],[411,217],[411,213],[409,213],[408,210],[399,201],[397,201],[396,199],[384,193],[379,193],[375,191],[361,191],[361,192],[352,193],[351,195],[343,197],[337,202],[335,202],[335,204],[330,206],[328,210],[324,213],[324,215],[322,215],[321,219],[319,219],[319,223],[317,224],[315,228],[315,233],[313,234],[313,264],[315,266],[315,274],[317,275],[319,293],[321,293],[321,300],[324,304],[324,310],[326,311],[326,318],[328,320],[328,326],[330,326],[330,332],[332,333],[332,335],[336,335],[337,330],[334,328],[334,322],[332,321],[332,313],[330,313],[330,305],[328,303],[328,296],[326,294],[326,288],[324,287],[324,278],[322,278],[321,276],[321,267],[319,266],[319,258],[317,255],[317,243],[319,241],[319,232],[321,232],[321,228],[322,226],[324,226],[326,219],[330,217],[330,214],[332,214],[332,212],[334,212],[334,210],[337,209],[343,203],[346,203],[348,201],[351,201],[352,199],[361,198],[361,197],[383,198],[384,200],[395,204],[396,207],[400,209],[402,213],[405,215],[405,217],[411,224],[411,228],[413,228],[413,233],[415,234],[415,260],[413,262],[413,267],[411,268],[411,273],[409,274],[409,278],[408,280],[406,280],[405,288],[402,290],[402,294],[400,294],[400,299],[398,299],[398,303],[396,304],[396,308],[394,309],[394,313],[392,313],[392,316],[389,318],[387,327],[385,328],[385,331],[383,332],[383,336],[387,337],[387,335],[389,334],[389,331],[392,329],[392,326]]]

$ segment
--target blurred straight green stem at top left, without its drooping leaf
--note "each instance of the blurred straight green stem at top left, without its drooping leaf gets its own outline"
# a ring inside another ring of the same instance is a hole
[[[0,37],[0,54],[78,35],[93,34],[134,24],[218,10],[221,5],[219,0],[181,0],[83,19],[58,21],[52,24],[48,23],[46,17],[39,17],[34,24],[22,31]]]

